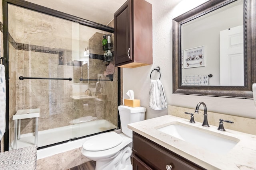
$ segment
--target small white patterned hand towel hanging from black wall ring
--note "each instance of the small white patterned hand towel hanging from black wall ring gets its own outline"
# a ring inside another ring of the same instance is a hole
[[[167,107],[164,88],[159,79],[151,80],[148,106],[155,110],[162,110]]]

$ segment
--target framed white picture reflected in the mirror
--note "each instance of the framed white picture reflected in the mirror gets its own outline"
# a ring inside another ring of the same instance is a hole
[[[204,46],[184,50],[184,68],[205,66]]]

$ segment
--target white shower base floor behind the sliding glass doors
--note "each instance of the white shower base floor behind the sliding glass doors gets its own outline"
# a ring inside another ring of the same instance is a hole
[[[93,133],[117,128],[115,125],[105,119],[94,120],[65,127],[58,127],[44,131],[38,131],[38,147],[51,145],[54,143],[67,141],[72,138],[82,137]],[[17,149],[34,145],[34,133],[20,135],[17,140]],[[13,142],[10,150],[13,149]]]

